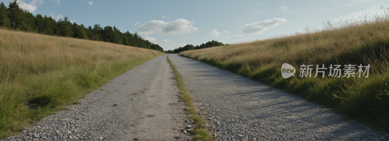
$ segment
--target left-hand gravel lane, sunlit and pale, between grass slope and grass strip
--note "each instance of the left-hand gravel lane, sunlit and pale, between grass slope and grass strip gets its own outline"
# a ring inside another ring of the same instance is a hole
[[[49,115],[6,141],[191,139],[180,131],[186,125],[185,105],[178,102],[179,89],[172,78],[166,55],[158,56],[79,99],[81,104]]]

